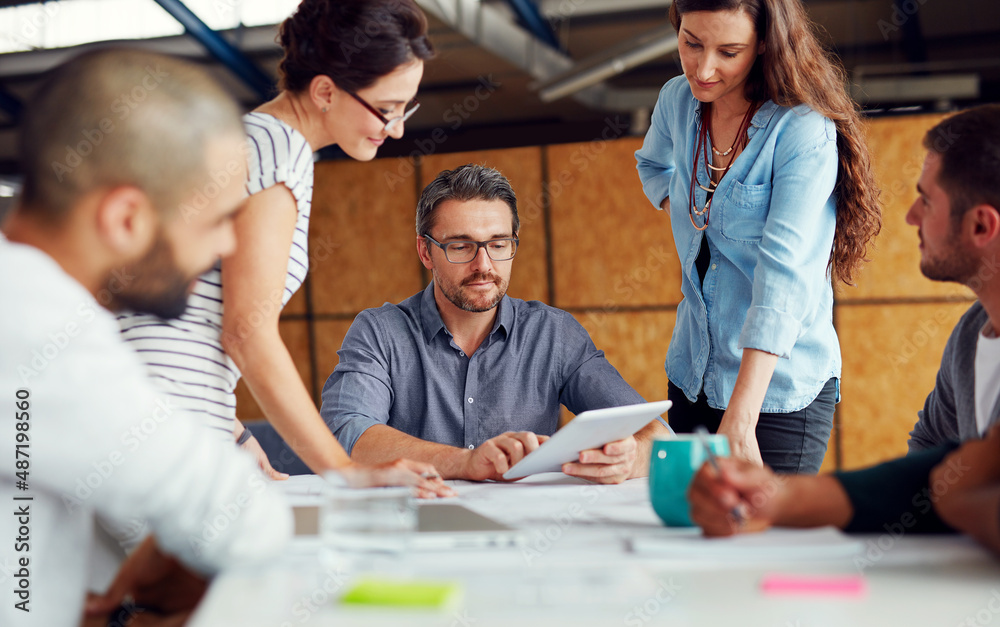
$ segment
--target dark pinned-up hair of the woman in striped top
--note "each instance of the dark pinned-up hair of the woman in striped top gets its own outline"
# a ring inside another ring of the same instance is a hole
[[[316,76],[357,92],[400,65],[427,61],[434,47],[413,0],[303,0],[281,23],[279,87],[301,92]]]

